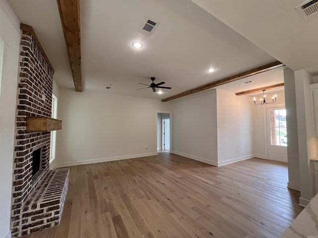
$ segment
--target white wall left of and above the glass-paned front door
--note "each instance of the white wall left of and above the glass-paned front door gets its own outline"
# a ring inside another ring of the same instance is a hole
[[[266,108],[282,107],[285,105],[285,93],[266,93],[268,96],[277,95],[276,103],[266,105],[254,105],[253,97],[249,102],[252,105],[252,125],[253,125],[253,154],[255,157],[267,159],[267,139],[266,139]],[[256,97],[257,98],[257,97]],[[287,125],[288,126],[288,125]]]

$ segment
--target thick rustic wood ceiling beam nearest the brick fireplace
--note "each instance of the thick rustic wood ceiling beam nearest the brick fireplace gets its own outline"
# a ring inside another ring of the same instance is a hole
[[[75,91],[82,91],[80,64],[79,0],[57,0]]]

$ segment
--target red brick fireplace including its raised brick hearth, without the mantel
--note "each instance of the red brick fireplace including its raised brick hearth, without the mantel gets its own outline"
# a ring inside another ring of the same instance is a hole
[[[27,117],[52,115],[54,70],[32,27],[21,24],[20,29],[11,202],[12,237],[59,224],[69,178],[69,170],[49,171],[51,133],[26,131]],[[32,166],[35,154],[39,156],[37,160],[40,163]]]

